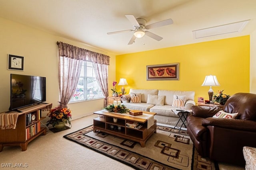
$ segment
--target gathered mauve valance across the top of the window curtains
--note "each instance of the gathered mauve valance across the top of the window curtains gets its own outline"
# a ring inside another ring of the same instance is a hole
[[[59,46],[59,56],[68,57],[76,60],[90,61],[92,63],[109,65],[110,57],[96,53],[87,49],[82,49],[74,45],[57,42]]]

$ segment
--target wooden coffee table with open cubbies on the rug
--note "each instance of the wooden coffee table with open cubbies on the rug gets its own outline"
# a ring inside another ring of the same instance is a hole
[[[116,114],[108,111],[96,111],[94,114],[98,114],[99,117],[93,120],[93,131],[102,131],[108,134],[116,135],[125,139],[139,142],[141,147],[145,147],[145,143],[148,138],[156,133],[156,120],[154,119],[154,125],[148,128],[147,119],[140,118],[140,116],[131,116],[129,114]],[[143,114],[156,115],[156,113],[143,111]],[[113,118],[117,118],[115,123]],[[128,121],[138,122],[142,127],[135,129],[126,126]],[[113,128],[116,127],[116,128]]]

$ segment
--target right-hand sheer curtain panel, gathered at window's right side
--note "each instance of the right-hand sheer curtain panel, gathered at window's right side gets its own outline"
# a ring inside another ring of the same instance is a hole
[[[105,96],[104,107],[108,105],[108,66],[104,64],[93,64],[96,80]]]

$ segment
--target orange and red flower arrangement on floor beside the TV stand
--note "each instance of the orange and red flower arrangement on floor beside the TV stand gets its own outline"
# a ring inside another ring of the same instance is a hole
[[[62,108],[62,107],[55,107],[54,109],[51,109],[50,112],[47,114],[48,117],[50,117],[50,120],[47,121],[46,126],[52,124],[53,127],[55,127],[58,124],[66,124],[68,123],[71,125],[70,119],[71,119],[71,110],[68,108]]]

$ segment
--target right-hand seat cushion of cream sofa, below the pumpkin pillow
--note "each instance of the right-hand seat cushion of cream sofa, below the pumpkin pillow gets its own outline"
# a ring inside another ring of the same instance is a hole
[[[172,109],[175,109],[175,107],[172,107],[170,105],[164,105],[164,106],[158,106],[155,105],[149,109],[150,112],[154,112],[157,115],[165,115],[165,116],[172,116],[172,117],[179,117],[176,115]]]

